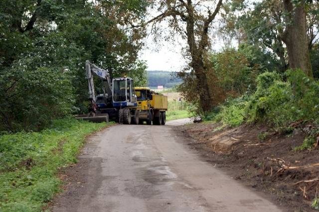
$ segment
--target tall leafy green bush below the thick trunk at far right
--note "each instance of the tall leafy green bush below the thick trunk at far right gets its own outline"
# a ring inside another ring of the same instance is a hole
[[[315,121],[319,117],[318,94],[318,82],[301,70],[288,70],[287,82],[277,73],[261,74],[247,106],[249,122],[286,127],[298,120]]]

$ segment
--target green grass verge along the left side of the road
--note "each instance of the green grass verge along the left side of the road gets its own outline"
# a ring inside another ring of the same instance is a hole
[[[50,129],[0,136],[0,211],[41,211],[59,191],[59,168],[77,162],[87,135],[106,126],[73,119]]]

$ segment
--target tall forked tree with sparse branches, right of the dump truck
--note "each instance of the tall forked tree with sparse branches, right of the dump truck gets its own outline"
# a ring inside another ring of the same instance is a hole
[[[191,69],[189,79],[194,80],[191,81],[193,86],[184,87],[186,88],[184,94],[188,97],[195,96],[195,99],[197,97],[202,111],[208,111],[213,102],[207,83],[205,58],[207,49],[210,47],[209,29],[221,5],[222,0],[160,0],[158,4],[153,5],[157,6],[160,14],[149,21],[149,23],[166,21],[165,23],[171,29],[169,36],[176,33],[187,42],[186,55],[190,60]],[[153,25],[152,29],[157,28]]]

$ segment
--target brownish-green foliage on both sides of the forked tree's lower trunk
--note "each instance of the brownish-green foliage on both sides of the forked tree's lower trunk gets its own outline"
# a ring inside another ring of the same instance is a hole
[[[247,89],[255,87],[256,75],[258,72],[265,70],[261,67],[267,61],[260,61],[262,64],[256,66],[249,61],[250,56],[251,51],[246,49],[236,50],[235,48],[210,53],[209,60],[206,62],[207,85],[212,97],[209,105],[212,107],[218,106],[224,103],[227,98],[241,96]],[[178,90],[186,101],[197,106],[195,111],[197,115],[202,115],[203,110],[198,106],[200,105],[196,83],[198,79],[193,72],[179,73],[179,77],[183,79],[183,83],[178,86]]]

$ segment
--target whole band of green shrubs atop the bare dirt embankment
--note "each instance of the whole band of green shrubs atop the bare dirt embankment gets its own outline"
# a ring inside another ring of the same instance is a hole
[[[286,79],[286,80],[283,80]],[[227,100],[205,114],[204,120],[239,126],[243,121],[262,123],[279,130],[293,130],[294,123],[308,123],[308,139],[319,137],[319,81],[301,70],[284,76],[266,72],[258,76],[256,91]]]

